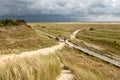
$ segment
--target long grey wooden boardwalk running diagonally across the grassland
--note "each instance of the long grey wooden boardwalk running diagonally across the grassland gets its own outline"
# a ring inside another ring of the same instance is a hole
[[[76,35],[77,32],[79,32],[79,31],[80,31],[80,30],[77,30],[77,31],[74,32],[73,34]],[[46,33],[45,33],[45,34],[46,34]],[[53,36],[53,35],[50,35],[50,34],[46,34],[46,35],[47,35],[48,37],[53,38],[53,39],[56,39],[56,38],[57,38],[57,37],[55,37],[55,36]],[[62,39],[61,39],[61,40],[62,40]],[[68,46],[70,46],[70,47],[73,47],[73,48],[75,48],[75,49],[78,49],[78,50],[80,50],[80,51],[82,51],[82,52],[84,52],[84,53],[86,53],[86,54],[88,54],[88,55],[97,57],[97,58],[99,58],[99,59],[101,59],[101,60],[103,60],[103,61],[106,61],[106,62],[108,62],[108,63],[111,63],[111,64],[113,64],[113,65],[115,65],[115,66],[117,66],[117,67],[120,68],[120,62],[119,62],[119,61],[113,60],[113,59],[111,59],[111,58],[109,58],[109,57],[100,55],[100,54],[98,54],[98,53],[96,53],[96,52],[93,52],[93,51],[91,51],[91,50],[88,50],[88,49],[85,49],[85,48],[83,48],[83,47],[77,46],[77,45],[69,42],[68,40],[66,40],[66,41],[59,41],[59,42],[64,42],[64,43],[66,43],[66,44],[67,44]]]

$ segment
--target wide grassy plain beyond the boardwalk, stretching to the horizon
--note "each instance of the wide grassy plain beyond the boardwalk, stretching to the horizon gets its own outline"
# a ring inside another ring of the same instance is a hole
[[[84,29],[77,34],[78,39],[100,46],[104,51],[87,47],[80,41],[72,40],[77,45],[113,58],[120,55],[120,24],[119,23],[29,23],[33,28],[69,39],[72,32]],[[117,57],[119,58],[119,57]]]

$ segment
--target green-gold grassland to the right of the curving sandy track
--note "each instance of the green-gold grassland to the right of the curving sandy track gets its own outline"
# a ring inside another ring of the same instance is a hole
[[[100,24],[99,24],[100,25]],[[120,24],[93,26],[77,34],[77,38],[104,48],[105,55],[120,56]],[[77,42],[77,41],[76,41]],[[77,44],[81,44],[77,42]]]

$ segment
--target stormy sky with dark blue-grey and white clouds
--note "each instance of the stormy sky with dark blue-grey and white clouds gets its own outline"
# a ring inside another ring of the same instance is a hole
[[[120,0],[0,0],[0,19],[120,21]]]

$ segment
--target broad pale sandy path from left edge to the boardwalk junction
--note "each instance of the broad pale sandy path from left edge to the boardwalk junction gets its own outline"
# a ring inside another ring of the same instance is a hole
[[[58,45],[55,45],[53,47],[38,49],[35,51],[22,52],[20,54],[1,55],[0,56],[0,63],[5,62],[9,59],[14,59],[16,57],[30,57],[30,56],[33,56],[36,54],[47,55],[49,53],[54,53],[58,49],[62,49],[64,45],[65,45],[64,43],[59,43]]]

